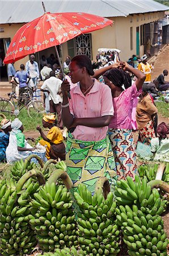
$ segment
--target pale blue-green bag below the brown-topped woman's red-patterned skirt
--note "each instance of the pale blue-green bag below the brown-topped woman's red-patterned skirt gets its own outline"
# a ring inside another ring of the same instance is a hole
[[[151,158],[153,156],[153,153],[151,152],[151,146],[147,145],[145,142],[137,142],[137,147],[136,147],[136,154],[140,156],[141,158]]]

